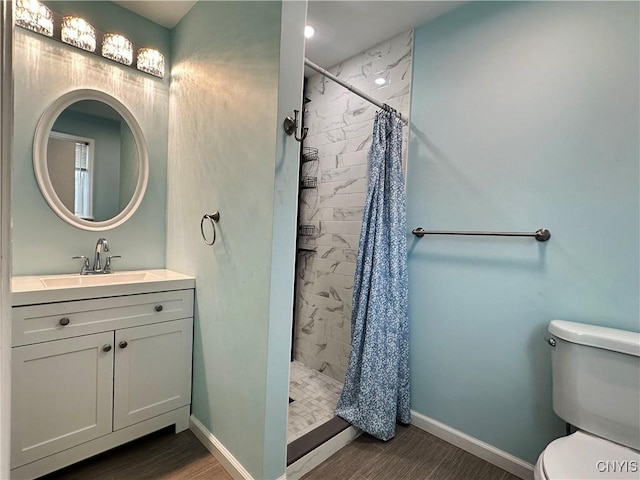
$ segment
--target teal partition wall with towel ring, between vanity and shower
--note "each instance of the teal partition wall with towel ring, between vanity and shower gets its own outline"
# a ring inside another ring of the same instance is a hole
[[[301,77],[300,47],[280,62],[288,12],[302,42],[295,3],[199,2],[172,36],[167,266],[196,277],[192,413],[260,479],[285,467],[297,144],[279,102],[289,85],[299,105],[302,84],[279,76]]]

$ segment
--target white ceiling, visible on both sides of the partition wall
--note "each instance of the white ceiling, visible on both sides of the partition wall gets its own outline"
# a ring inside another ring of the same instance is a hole
[[[120,0],[118,5],[173,28],[197,2],[192,0]],[[316,34],[307,40],[306,57],[324,68],[384,40],[422,25],[462,1],[309,0],[307,23]]]

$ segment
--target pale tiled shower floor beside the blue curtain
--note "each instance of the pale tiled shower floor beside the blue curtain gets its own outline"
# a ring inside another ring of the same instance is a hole
[[[291,362],[287,443],[333,419],[341,391],[340,382],[302,362]]]

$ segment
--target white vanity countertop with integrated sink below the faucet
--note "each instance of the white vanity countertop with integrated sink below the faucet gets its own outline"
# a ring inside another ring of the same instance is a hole
[[[164,269],[82,276],[31,275],[11,278],[11,301],[15,307],[194,287],[194,277]]]

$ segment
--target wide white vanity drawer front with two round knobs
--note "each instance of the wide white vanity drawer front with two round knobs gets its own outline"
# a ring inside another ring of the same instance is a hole
[[[127,295],[12,309],[13,346],[193,316],[193,290]]]

